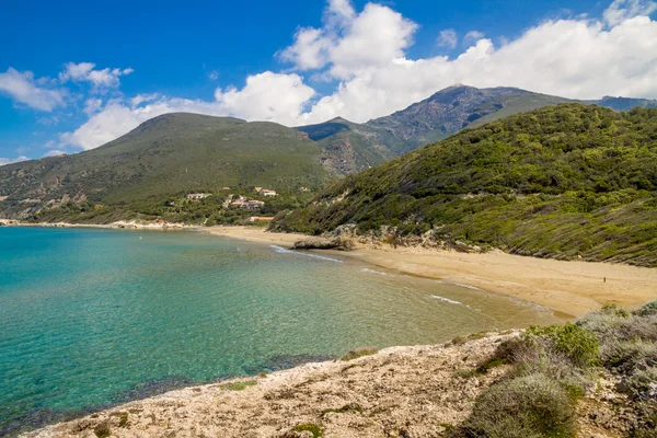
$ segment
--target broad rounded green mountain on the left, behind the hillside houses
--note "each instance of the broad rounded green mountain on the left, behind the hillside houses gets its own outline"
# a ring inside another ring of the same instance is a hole
[[[322,149],[273,123],[197,114],[150,119],[97,149],[0,166],[0,217],[69,201],[130,205],[223,186],[316,191]]]

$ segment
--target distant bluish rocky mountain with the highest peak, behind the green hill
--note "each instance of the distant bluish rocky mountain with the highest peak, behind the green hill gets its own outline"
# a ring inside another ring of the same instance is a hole
[[[324,148],[346,151],[343,173],[368,169],[372,163],[415,150],[447,138],[466,127],[482,126],[514,114],[575,100],[533,93],[516,88],[476,89],[454,85],[415,103],[405,110],[365,124],[342,118],[324,124],[298,127]],[[657,107],[657,101],[606,96],[587,104],[627,111],[634,106]],[[364,151],[371,154],[365,158]],[[353,151],[353,152],[351,152]]]

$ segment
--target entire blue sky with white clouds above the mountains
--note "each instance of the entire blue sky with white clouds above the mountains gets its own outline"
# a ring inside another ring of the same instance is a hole
[[[657,99],[653,0],[31,0],[0,41],[0,165],[171,112],[362,123],[457,83]]]

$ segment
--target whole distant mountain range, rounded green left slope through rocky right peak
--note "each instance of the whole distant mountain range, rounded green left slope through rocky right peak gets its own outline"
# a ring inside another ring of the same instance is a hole
[[[464,128],[568,99],[514,88],[456,85],[365,124],[337,117],[287,128],[230,117],[166,114],[97,149],[0,166],[0,218],[28,218],[67,203],[159,205],[188,192],[265,186],[295,203],[341,176],[376,166]],[[611,107],[657,101],[603,97]],[[298,200],[297,198],[301,199]]]

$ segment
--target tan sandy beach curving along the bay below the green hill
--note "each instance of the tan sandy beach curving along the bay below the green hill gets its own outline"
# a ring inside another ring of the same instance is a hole
[[[291,246],[303,234],[266,232],[249,227],[212,227],[215,235]],[[499,251],[466,254],[423,247],[359,245],[341,252],[385,269],[466,284],[546,307],[558,316],[576,318],[603,304],[626,308],[657,298],[657,269],[610,263],[562,262]]]

